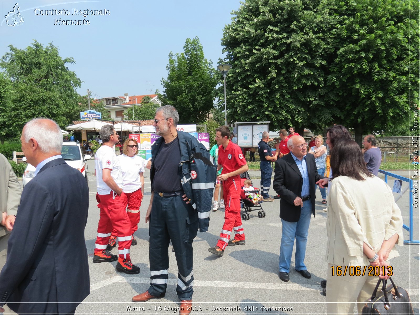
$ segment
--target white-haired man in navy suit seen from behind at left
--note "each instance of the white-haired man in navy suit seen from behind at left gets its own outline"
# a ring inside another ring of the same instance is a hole
[[[0,273],[0,305],[18,314],[71,314],[90,289],[87,183],[61,157],[63,135],[54,121],[29,121],[21,142],[36,170],[13,223]]]

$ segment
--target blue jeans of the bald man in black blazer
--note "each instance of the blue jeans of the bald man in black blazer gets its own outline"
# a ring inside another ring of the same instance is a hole
[[[288,222],[281,219],[281,244],[280,244],[280,262],[278,268],[280,272],[289,272],[291,254],[293,252],[294,239],[296,238],[296,253],[294,255],[295,269],[306,270],[304,264],[306,242],[308,240],[309,223],[311,222],[312,202],[307,200],[303,202],[303,208],[300,210],[299,221]]]

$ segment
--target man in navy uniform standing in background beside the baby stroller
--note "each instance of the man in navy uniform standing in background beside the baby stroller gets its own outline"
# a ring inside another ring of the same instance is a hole
[[[262,133],[262,140],[258,143],[261,170],[261,195],[262,198],[264,198],[264,201],[274,201],[274,199],[268,195],[268,191],[270,190],[271,185],[271,173],[273,173],[270,162],[277,160],[277,157],[271,154],[271,148],[267,142],[268,132],[264,131]]]

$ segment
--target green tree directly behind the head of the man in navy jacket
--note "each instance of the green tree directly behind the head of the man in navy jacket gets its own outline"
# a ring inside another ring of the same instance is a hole
[[[159,90],[162,105],[173,105],[179,113],[180,123],[202,123],[213,108],[213,90],[217,79],[210,60],[204,57],[198,39],[187,38],[184,53],[169,53],[166,66],[168,78],[162,79],[163,92]]]

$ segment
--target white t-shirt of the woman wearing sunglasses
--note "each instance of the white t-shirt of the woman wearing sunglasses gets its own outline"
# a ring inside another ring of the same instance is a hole
[[[142,188],[139,173],[144,173],[145,160],[138,155],[129,157],[125,154],[117,156],[123,174],[123,192],[135,192]]]

